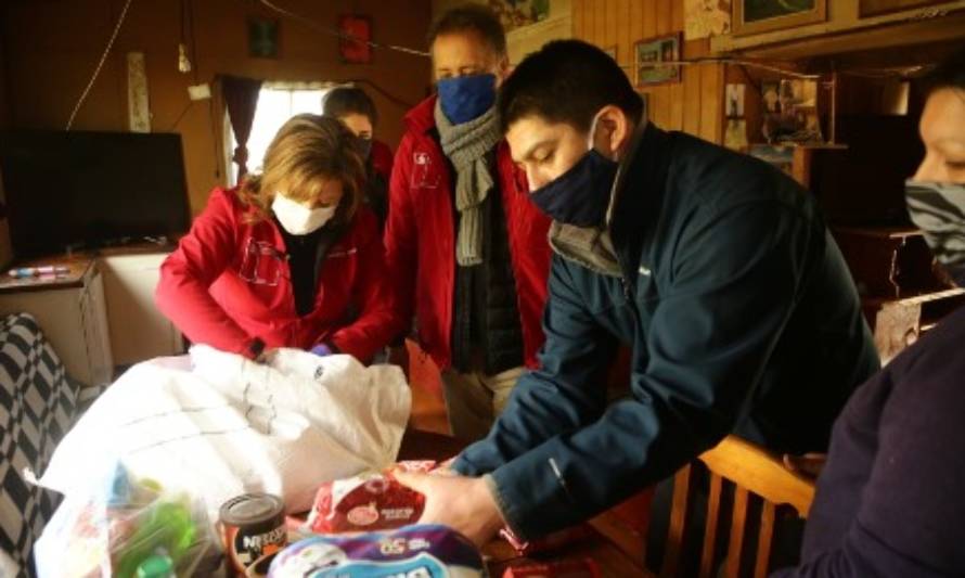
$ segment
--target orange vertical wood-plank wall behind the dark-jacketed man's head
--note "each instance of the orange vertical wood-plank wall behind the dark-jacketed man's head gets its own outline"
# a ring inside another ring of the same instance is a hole
[[[574,36],[601,48],[617,47],[617,61],[633,81],[633,44],[670,34],[683,40],[683,0],[574,0]],[[683,59],[705,56],[709,41],[683,42]],[[722,142],[724,72],[720,64],[683,67],[680,82],[641,88],[649,119]]]

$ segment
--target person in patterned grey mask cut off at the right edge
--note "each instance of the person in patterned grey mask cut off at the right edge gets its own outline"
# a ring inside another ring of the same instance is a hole
[[[965,49],[925,79],[925,158],[912,221],[965,287]],[[792,577],[965,576],[965,309],[903,350],[848,401]]]

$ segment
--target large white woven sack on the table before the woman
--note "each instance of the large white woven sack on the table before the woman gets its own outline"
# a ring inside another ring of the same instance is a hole
[[[103,454],[205,501],[249,491],[307,512],[318,484],[396,461],[411,393],[402,371],[279,349],[267,363],[196,345],[138,363],[98,398],[40,479],[70,496]]]

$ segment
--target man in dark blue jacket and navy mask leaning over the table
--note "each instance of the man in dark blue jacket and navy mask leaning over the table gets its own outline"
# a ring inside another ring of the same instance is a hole
[[[827,447],[878,369],[848,270],[811,195],[771,166],[641,118],[601,50],[556,41],[503,85],[530,200],[554,222],[540,368],[452,478],[403,476],[424,522],[532,538],[670,476],[735,433]],[[630,394],[605,373],[631,348]]]

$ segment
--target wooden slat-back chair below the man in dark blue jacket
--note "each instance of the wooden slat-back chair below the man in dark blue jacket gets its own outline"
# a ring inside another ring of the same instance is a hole
[[[718,543],[718,522],[725,491],[733,491],[733,514],[726,541],[726,557],[720,575],[728,578],[741,575],[745,535],[748,526],[754,527],[752,524],[748,525],[752,510],[752,494],[762,502],[757,551],[754,556],[754,576],[767,576],[779,509],[790,508],[798,516],[807,517],[814,498],[814,483],[789,472],[780,457],[734,436],[724,438],[720,445],[682,467],[674,476],[673,503],[660,576],[667,578],[678,576],[682,568],[682,556],[686,552],[695,551],[694,548],[686,548],[685,538],[689,534],[686,527],[689,513],[696,506],[694,496],[700,468],[706,468],[709,476],[704,541],[699,550],[700,578],[715,575],[720,564],[715,554]],[[628,531],[621,521],[604,514],[594,518],[591,524],[620,550],[634,556],[646,557],[645,537]]]

